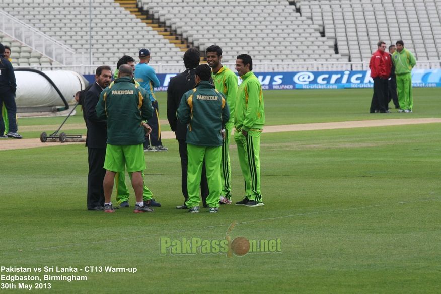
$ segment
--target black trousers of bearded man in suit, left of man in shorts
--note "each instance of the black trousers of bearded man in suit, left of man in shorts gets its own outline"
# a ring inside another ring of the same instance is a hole
[[[106,170],[104,169],[104,159],[106,157],[105,148],[88,148],[89,174],[87,176],[87,209],[96,206],[104,206],[103,181]]]

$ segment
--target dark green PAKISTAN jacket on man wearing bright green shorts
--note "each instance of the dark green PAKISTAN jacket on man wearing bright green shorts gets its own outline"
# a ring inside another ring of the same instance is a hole
[[[133,78],[121,77],[101,92],[97,116],[107,120],[107,143],[137,145],[144,142],[142,120],[153,115],[150,98]]]

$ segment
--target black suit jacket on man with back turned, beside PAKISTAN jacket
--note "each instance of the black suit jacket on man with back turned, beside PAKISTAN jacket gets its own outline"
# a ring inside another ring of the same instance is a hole
[[[178,120],[176,112],[185,92],[196,87],[194,81],[194,69],[186,69],[176,77],[170,79],[167,89],[167,119],[170,128],[175,132],[177,140],[185,140],[187,135],[187,125]]]

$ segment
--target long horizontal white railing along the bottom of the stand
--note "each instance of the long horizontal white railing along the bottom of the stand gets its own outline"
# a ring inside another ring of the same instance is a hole
[[[115,64],[95,64],[95,65],[66,65],[66,66],[41,66],[35,65],[31,68],[39,70],[72,70],[82,75],[92,75],[95,69],[100,65],[109,65],[112,70],[116,68]],[[166,64],[166,63],[149,63],[156,73],[179,73],[183,71],[182,63]],[[233,71],[234,63],[224,63]],[[16,68],[23,68],[16,66]],[[29,66],[27,66],[29,68]],[[439,69],[441,68],[441,60],[418,61],[415,69]],[[366,62],[287,62],[287,63],[271,63],[256,62],[253,64],[254,72],[289,72],[289,71],[342,71],[342,70],[368,70],[369,61]]]

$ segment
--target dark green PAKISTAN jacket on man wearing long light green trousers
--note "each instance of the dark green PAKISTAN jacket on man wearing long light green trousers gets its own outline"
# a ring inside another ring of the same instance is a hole
[[[178,108],[178,119],[188,124],[187,144],[222,146],[220,131],[230,118],[224,95],[208,81],[186,92]]]

